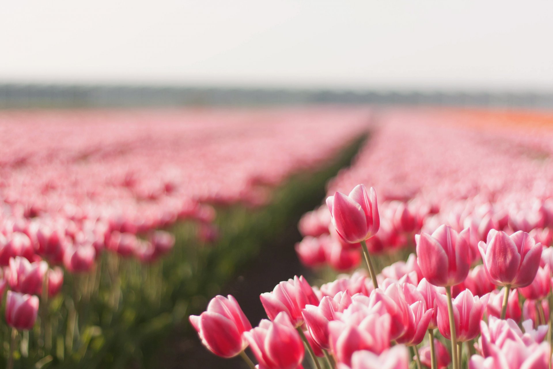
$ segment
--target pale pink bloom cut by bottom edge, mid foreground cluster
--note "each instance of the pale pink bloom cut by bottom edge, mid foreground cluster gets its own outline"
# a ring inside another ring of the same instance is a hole
[[[339,369],[349,369],[340,366]],[[409,369],[409,354],[405,346],[397,345],[377,355],[371,351],[354,352],[351,369]]]

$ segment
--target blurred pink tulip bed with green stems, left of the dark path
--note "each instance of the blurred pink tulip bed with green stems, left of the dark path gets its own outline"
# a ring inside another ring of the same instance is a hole
[[[291,175],[326,165],[368,118],[340,108],[1,112],[7,367],[126,365],[109,350],[136,355],[131,339],[177,324],[190,303],[179,276],[201,269],[205,252],[175,241],[215,241],[216,209],[265,204]]]

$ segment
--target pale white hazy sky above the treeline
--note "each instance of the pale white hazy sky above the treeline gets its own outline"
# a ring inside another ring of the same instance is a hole
[[[553,91],[553,1],[3,1],[0,82]]]

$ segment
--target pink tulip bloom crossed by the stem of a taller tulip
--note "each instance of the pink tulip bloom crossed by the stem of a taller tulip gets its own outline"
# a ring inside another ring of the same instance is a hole
[[[472,340],[480,333],[480,320],[488,302],[488,295],[482,298],[473,296],[466,289],[453,299],[453,315],[455,316],[455,332],[457,342]],[[438,329],[442,336],[451,339],[449,316],[447,311],[447,297],[436,295],[438,303]]]

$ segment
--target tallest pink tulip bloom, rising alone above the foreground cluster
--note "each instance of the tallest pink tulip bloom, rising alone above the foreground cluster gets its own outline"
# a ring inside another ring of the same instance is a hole
[[[371,196],[364,185],[357,185],[348,196],[336,192],[326,199],[332,224],[338,235],[348,243],[358,243],[378,232],[377,194],[371,187]]]

